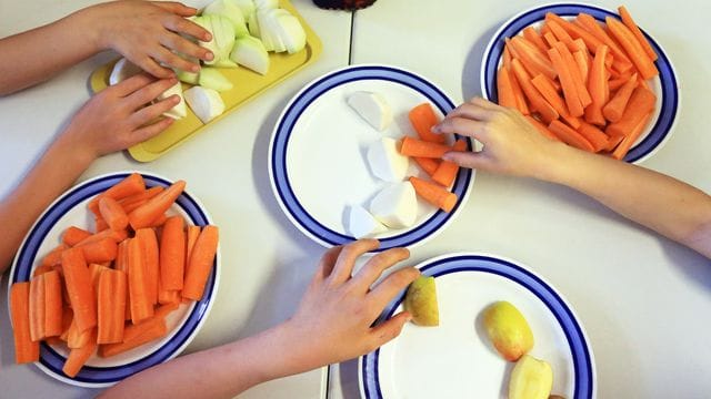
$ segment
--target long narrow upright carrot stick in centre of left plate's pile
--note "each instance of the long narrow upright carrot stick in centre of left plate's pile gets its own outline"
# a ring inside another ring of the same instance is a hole
[[[128,244],[129,260],[129,297],[131,303],[131,321],[138,324],[153,316],[153,303],[149,297],[148,272],[143,263],[143,252],[138,238]]]

